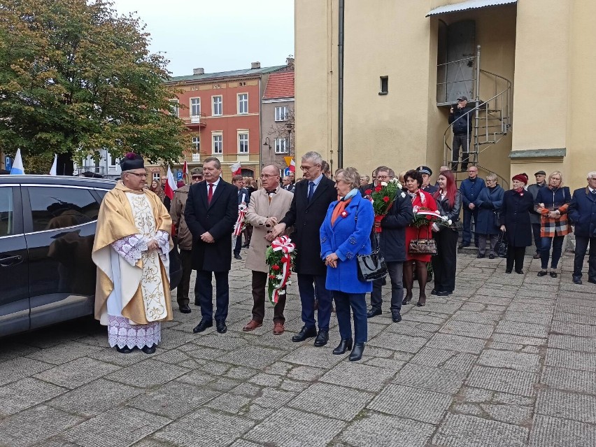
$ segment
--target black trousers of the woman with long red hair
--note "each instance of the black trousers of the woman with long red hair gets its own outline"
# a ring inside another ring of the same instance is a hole
[[[437,241],[437,255],[431,258],[434,271],[434,290],[453,292],[455,290],[455,264],[457,261],[457,232],[443,228],[434,234]]]

